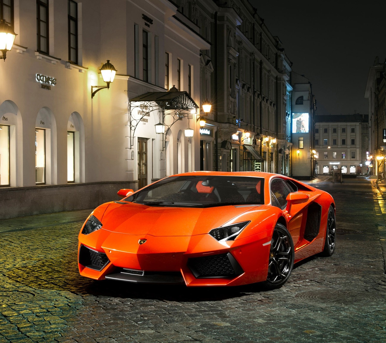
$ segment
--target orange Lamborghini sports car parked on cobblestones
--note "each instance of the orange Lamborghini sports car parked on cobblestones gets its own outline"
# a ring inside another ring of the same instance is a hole
[[[330,194],[264,172],[190,172],[98,206],[79,233],[80,274],[136,283],[281,287],[335,250]]]

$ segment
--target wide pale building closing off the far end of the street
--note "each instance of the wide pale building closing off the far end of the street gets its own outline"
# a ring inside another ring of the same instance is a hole
[[[342,174],[365,174],[369,152],[369,116],[315,116],[315,150],[317,174],[341,169]]]

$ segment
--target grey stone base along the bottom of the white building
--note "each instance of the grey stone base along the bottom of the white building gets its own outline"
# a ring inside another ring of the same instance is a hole
[[[95,208],[119,200],[121,188],[137,182],[95,182],[0,188],[0,219]]]

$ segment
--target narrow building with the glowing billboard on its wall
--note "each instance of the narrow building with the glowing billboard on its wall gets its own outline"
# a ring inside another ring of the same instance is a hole
[[[315,161],[312,150],[314,147],[314,128],[316,101],[312,94],[310,81],[304,75],[291,73],[292,118],[291,142],[292,175],[296,179],[311,179],[315,175]]]

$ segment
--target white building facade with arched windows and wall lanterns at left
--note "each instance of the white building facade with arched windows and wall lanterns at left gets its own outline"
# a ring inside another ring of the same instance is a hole
[[[120,188],[199,169],[200,50],[209,44],[172,2],[9,6],[18,35],[0,64],[0,218],[92,208]],[[115,79],[91,98],[91,86],[106,86],[107,60]],[[178,120],[158,103],[130,101],[173,85],[194,108]],[[167,135],[156,133],[160,121]]]

